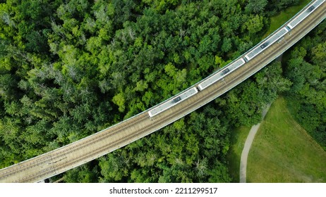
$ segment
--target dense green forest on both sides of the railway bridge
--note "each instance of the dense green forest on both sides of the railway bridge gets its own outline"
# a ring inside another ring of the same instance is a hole
[[[0,0],[0,168],[179,93],[260,42],[299,0]],[[230,131],[279,94],[326,146],[326,23],[227,94],[52,179],[232,182]],[[294,71],[294,72],[293,72]]]

